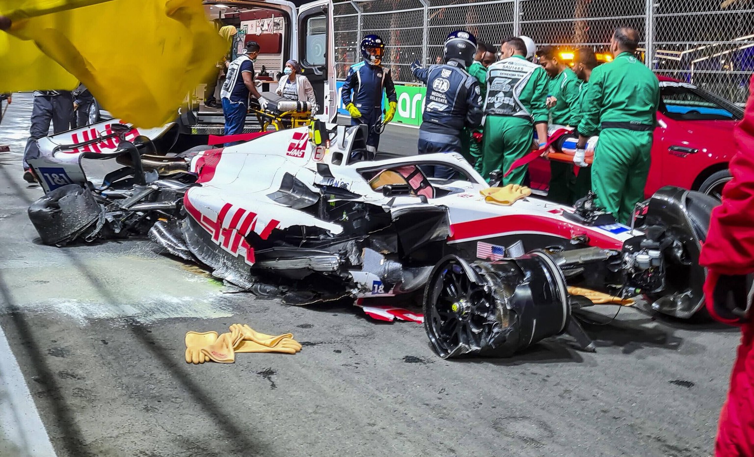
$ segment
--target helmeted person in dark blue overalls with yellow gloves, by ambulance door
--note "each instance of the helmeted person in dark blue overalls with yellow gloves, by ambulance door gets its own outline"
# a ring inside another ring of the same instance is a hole
[[[342,88],[342,101],[351,114],[351,125],[366,124],[369,133],[366,137],[366,151],[371,157],[379,147],[382,132],[382,93],[388,97],[388,110],[384,123],[393,120],[398,106],[395,85],[390,69],[382,67],[385,42],[377,35],[366,35],[361,40],[363,61],[351,66]],[[353,93],[353,94],[351,94]]]

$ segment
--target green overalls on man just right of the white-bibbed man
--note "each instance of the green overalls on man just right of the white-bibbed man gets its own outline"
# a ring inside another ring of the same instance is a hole
[[[548,78],[547,94],[557,99],[550,108],[550,123],[562,126],[575,126],[573,111],[578,102],[579,81],[572,69],[566,68],[555,78]],[[572,163],[550,161],[550,190],[548,200],[570,204],[574,196],[575,175]]]

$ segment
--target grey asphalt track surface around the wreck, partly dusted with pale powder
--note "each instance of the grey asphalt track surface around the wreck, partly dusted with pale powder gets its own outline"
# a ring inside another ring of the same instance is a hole
[[[443,361],[418,324],[225,293],[148,240],[44,246],[21,179],[30,109],[16,96],[0,125],[0,325],[57,455],[712,453],[735,329],[622,309],[587,326],[596,353],[553,338]],[[382,149],[414,139],[389,128]],[[186,331],[234,323],[303,350],[185,364]]]

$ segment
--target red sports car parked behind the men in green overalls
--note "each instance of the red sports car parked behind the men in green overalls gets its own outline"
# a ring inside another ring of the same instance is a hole
[[[673,185],[719,199],[722,187],[731,179],[728,162],[735,151],[733,127],[743,117],[743,109],[694,84],[658,78],[659,125],[654,129],[645,196]],[[550,182],[547,160],[535,160],[529,172],[532,189],[546,193]]]

